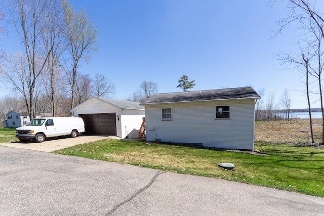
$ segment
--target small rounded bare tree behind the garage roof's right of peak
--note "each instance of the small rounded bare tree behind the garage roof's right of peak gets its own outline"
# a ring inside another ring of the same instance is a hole
[[[105,74],[100,73],[95,74],[94,89],[94,95],[98,97],[114,96],[116,93],[115,85]]]

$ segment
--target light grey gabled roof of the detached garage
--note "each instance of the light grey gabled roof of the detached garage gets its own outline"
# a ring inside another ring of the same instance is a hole
[[[70,112],[75,111],[77,109],[77,107],[79,107],[93,99],[100,100],[104,103],[110,104],[110,105],[115,106],[120,109],[144,110],[144,108],[141,107],[140,104],[137,102],[93,96],[90,99],[86,100],[85,102],[83,102],[83,103],[79,104],[78,106],[74,107],[73,109],[71,109]]]

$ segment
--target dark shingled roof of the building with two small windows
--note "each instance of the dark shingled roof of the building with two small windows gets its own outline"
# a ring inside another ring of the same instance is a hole
[[[260,99],[251,87],[154,94],[141,105],[230,99]]]

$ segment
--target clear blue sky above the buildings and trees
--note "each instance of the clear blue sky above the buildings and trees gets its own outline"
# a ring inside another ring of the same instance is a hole
[[[303,75],[275,59],[297,42],[293,26],[271,39],[276,21],[287,15],[284,5],[248,2],[73,0],[74,10],[84,7],[97,26],[100,46],[78,70],[105,74],[116,99],[126,99],[144,80],[156,82],[158,93],[180,92],[178,79],[186,74],[195,80],[192,91],[251,85],[278,100],[288,89],[292,107],[306,108]],[[8,30],[11,38],[2,42],[11,53],[21,48],[15,30]]]

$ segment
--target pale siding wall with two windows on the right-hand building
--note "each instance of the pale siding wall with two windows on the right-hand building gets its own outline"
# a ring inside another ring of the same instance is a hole
[[[216,106],[222,105],[230,106],[230,119],[215,119]],[[162,108],[172,109],[172,120],[161,120]],[[254,148],[254,100],[145,105],[145,116],[147,141]]]

